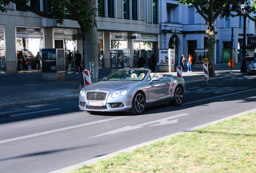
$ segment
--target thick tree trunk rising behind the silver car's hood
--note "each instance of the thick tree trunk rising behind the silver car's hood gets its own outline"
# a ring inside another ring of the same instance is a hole
[[[88,0],[88,9],[94,7],[95,0]],[[95,15],[91,16],[93,21],[93,27],[89,30],[81,27],[81,32],[83,35],[83,70],[89,70],[91,76],[91,82],[98,82],[98,30],[97,21]],[[81,26],[81,24],[80,24]],[[85,86],[83,75],[81,76],[79,89]]]

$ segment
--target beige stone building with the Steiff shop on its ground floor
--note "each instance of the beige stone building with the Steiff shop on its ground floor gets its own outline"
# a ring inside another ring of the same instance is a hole
[[[28,5],[47,12],[43,0]],[[99,68],[136,67],[138,58],[145,61],[158,54],[158,0],[96,0]],[[81,29],[76,21],[42,18],[10,3],[7,13],[0,13],[0,73],[41,71],[41,49],[63,48],[83,51]],[[75,66],[74,62],[72,65]]]

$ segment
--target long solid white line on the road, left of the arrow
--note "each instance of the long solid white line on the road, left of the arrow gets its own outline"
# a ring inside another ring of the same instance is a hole
[[[87,126],[87,125],[93,125],[93,124],[96,124],[96,123],[102,123],[102,122],[106,122],[106,121],[121,119],[121,118],[125,118],[125,117],[128,117],[128,116],[124,116],[124,117],[114,117],[114,118],[110,118],[110,119],[94,121],[94,122],[91,122],[91,123],[84,123],[84,124],[81,124],[81,125],[74,125],[74,126],[70,126],[70,127],[64,127],[64,128],[55,129],[55,130],[51,130],[51,131],[45,131],[45,132],[41,132],[41,133],[35,133],[35,134],[26,135],[26,136],[22,136],[22,137],[16,137],[16,138],[11,138],[11,139],[6,139],[6,140],[0,141],[0,144],[1,144],[1,143],[11,142],[11,141],[17,141],[17,140],[20,140],[20,139],[26,139],[26,138],[30,138],[30,137],[36,137],[36,136],[39,136],[39,135],[45,135],[45,134],[49,134],[49,133],[54,133],[54,132],[58,132],[58,131],[64,131],[64,130],[68,130],[68,129],[74,129],[74,128],[77,128],[77,127],[83,127],[83,126]]]

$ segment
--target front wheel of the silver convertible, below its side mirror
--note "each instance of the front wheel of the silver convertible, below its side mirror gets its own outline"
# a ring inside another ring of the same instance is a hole
[[[144,112],[146,100],[142,92],[138,91],[132,99],[132,111],[133,115],[140,115]]]

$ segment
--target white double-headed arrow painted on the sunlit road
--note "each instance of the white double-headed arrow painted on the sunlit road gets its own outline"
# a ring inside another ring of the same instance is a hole
[[[149,125],[149,124],[153,124],[153,123],[159,123],[159,124],[151,125],[149,127],[158,126],[158,125],[168,125],[168,124],[178,123],[178,119],[175,119],[175,120],[172,120],[172,121],[168,121],[168,120],[169,119],[174,119],[174,118],[177,118],[177,117],[182,117],[184,115],[189,115],[189,114],[179,114],[179,115],[175,115],[175,116],[172,116],[172,117],[167,117],[167,118],[164,118],[164,119],[159,119],[159,120],[156,120],[156,121],[151,121],[149,123],[144,123],[144,124],[136,125],[136,126],[126,126],[126,127],[120,128],[120,129],[116,129],[114,131],[109,131],[107,133],[103,133],[101,135],[94,136],[94,137],[99,137],[99,136],[103,136],[103,135],[109,135],[109,134],[113,134],[113,133],[119,133],[119,132],[123,132],[123,131],[139,129],[139,128],[142,128],[145,125]],[[90,137],[90,138],[94,138],[94,137]]]

